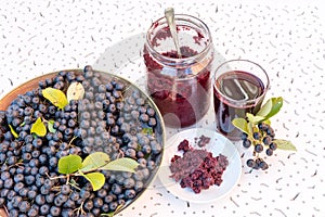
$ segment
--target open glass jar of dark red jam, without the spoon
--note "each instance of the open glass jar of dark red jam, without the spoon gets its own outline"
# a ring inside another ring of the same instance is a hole
[[[182,58],[165,17],[146,34],[144,62],[147,91],[168,127],[187,127],[208,112],[214,49],[207,25],[191,15],[174,15]]]

